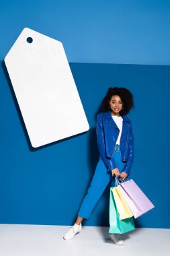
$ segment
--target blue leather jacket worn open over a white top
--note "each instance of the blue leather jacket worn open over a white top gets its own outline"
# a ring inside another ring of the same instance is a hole
[[[134,135],[132,132],[132,123],[126,115],[122,116],[122,134],[120,137],[120,150],[122,153],[122,162],[125,162],[124,168],[120,172],[130,174],[130,169],[134,160]],[[116,168],[116,162],[112,158],[114,146],[119,135],[119,129],[110,111],[102,112],[97,115],[97,146],[101,160],[108,168],[108,172]]]

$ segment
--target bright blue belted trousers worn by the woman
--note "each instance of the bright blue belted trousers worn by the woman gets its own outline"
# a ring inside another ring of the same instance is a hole
[[[116,151],[114,150],[112,158],[114,158],[119,171],[122,172],[122,168],[124,167],[125,163],[122,162],[120,146],[116,145],[115,148]],[[81,203],[78,216],[86,219],[89,218],[91,212],[93,211],[93,208],[95,207],[97,201],[105,191],[105,188],[108,186],[110,181],[111,187],[115,187],[115,175],[114,177],[112,177],[112,173],[108,172],[105,164],[99,156],[99,162],[97,163],[97,166],[95,168],[95,173],[93,175],[91,185],[89,186],[87,194],[85,195],[83,202]]]

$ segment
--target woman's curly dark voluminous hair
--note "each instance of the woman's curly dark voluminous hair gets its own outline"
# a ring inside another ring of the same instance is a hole
[[[132,108],[134,108],[134,99],[133,99],[134,97],[133,97],[132,92],[130,92],[130,90],[123,88],[123,87],[108,88],[108,92],[105,95],[105,97],[103,98],[102,103],[101,103],[103,111],[104,112],[110,111],[109,101],[111,100],[112,96],[114,96],[114,95],[120,96],[120,98],[123,102],[124,109],[120,110],[120,115],[121,116],[127,115],[130,112],[130,110]]]

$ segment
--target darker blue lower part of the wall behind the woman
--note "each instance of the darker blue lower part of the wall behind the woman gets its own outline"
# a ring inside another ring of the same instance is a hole
[[[155,209],[135,222],[170,228],[169,222],[169,66],[70,63],[90,130],[34,150],[5,69],[0,87],[0,222],[70,225],[75,221],[99,157],[96,115],[110,86],[134,94],[135,157],[130,177]],[[69,106],[69,102],[66,102]],[[69,112],[68,112],[69,114]],[[109,226],[109,187],[87,226]]]

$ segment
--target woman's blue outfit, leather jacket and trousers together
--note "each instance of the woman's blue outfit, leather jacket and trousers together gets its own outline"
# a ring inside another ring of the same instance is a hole
[[[115,187],[115,175],[112,177],[112,169],[118,168],[130,174],[134,158],[134,137],[130,119],[122,116],[123,126],[120,138],[120,145],[116,144],[119,129],[112,119],[111,112],[99,113],[97,115],[97,146],[99,149],[99,161],[91,185],[85,195],[78,216],[89,218],[97,201],[103,194],[107,185],[112,182]]]

